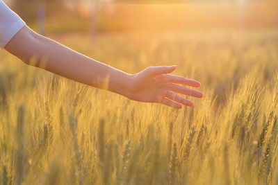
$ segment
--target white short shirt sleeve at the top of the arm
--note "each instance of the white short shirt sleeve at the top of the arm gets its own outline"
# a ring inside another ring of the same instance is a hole
[[[0,0],[0,49],[25,25],[25,22]]]

